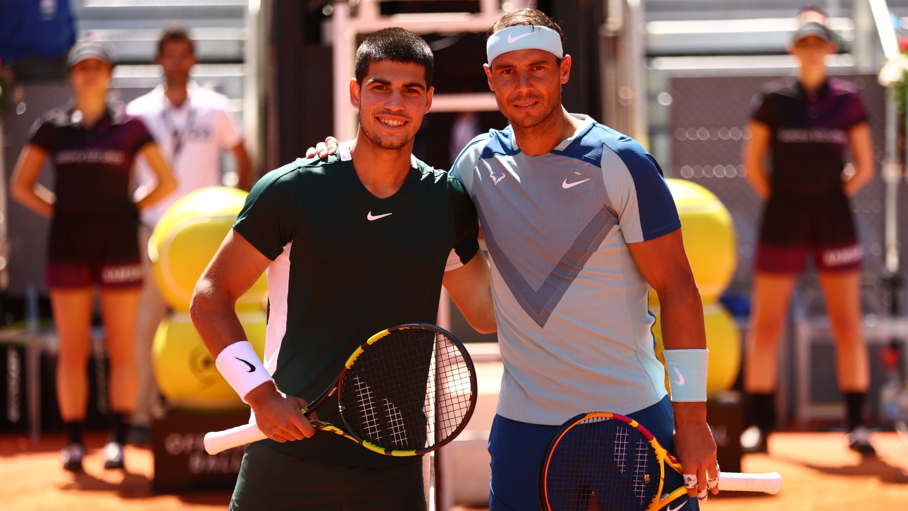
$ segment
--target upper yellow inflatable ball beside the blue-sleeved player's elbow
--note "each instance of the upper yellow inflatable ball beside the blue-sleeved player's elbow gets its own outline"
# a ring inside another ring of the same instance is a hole
[[[696,182],[666,182],[681,217],[684,248],[700,297],[704,302],[718,300],[735,276],[737,265],[732,215],[713,192]],[[650,291],[649,300],[658,301],[656,291]]]

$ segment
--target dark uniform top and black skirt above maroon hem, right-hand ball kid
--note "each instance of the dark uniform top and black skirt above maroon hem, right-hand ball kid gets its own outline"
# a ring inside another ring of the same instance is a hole
[[[829,78],[808,92],[789,79],[767,84],[754,106],[752,119],[772,132],[772,192],[760,242],[812,247],[856,243],[842,171],[849,130],[867,120],[857,88]]]

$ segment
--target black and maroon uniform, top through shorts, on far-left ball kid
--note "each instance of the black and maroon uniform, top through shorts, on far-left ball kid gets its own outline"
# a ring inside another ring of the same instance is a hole
[[[154,142],[142,121],[108,107],[86,127],[74,108],[57,109],[35,123],[29,142],[54,163],[47,286],[140,286],[132,169],[136,154]]]

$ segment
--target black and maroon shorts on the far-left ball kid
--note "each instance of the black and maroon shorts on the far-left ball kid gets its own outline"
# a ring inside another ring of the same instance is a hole
[[[138,288],[138,222],[131,215],[112,218],[54,218],[51,222],[44,283],[48,288]]]

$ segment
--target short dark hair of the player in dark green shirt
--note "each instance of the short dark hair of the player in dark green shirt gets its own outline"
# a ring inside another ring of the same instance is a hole
[[[404,64],[419,64],[426,72],[426,87],[432,86],[435,56],[422,37],[400,27],[384,28],[370,34],[356,49],[356,81],[362,84],[369,73],[369,64],[392,60]]]

